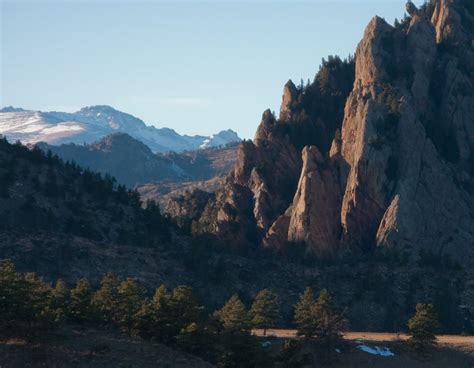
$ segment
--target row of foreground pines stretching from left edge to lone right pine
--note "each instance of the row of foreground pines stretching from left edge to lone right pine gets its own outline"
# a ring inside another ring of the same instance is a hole
[[[85,278],[69,288],[59,279],[53,285],[35,273],[21,274],[10,260],[0,260],[0,331],[37,338],[65,324],[120,330],[134,337],[182,349],[218,367],[301,367],[312,355],[302,354],[311,342],[321,356],[344,346],[347,321],[337,311],[326,289],[315,297],[310,288],[294,306],[294,323],[300,340],[288,340],[275,356],[253,333],[278,326],[280,301],[261,290],[247,308],[233,295],[222,308],[209,313],[192,288],[158,287],[152,296],[136,280],[121,280],[106,273],[94,290]],[[409,321],[411,342],[419,349],[435,343],[439,328],[432,305],[420,304]]]

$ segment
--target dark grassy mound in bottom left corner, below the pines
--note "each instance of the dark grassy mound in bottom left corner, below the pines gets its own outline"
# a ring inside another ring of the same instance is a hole
[[[34,341],[34,340],[33,340]],[[201,359],[164,345],[103,330],[67,326],[41,342],[0,338],[0,367],[206,368]]]

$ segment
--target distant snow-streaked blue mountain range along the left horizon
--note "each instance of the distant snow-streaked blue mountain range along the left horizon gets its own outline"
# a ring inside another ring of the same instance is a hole
[[[0,134],[24,144],[92,143],[117,132],[142,141],[154,152],[182,152],[240,141],[232,130],[209,137],[180,135],[173,129],[147,126],[133,115],[103,105],[84,107],[75,113],[31,111],[11,106],[0,110]]]

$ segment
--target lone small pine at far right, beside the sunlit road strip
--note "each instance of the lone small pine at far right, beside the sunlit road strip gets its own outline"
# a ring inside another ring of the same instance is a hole
[[[436,344],[439,329],[438,315],[432,304],[417,304],[415,315],[408,321],[410,342],[423,350]]]

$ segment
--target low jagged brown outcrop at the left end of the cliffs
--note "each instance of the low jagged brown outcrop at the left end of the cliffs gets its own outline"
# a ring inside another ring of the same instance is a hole
[[[234,170],[216,204],[221,236],[238,229],[240,238],[258,243],[258,234],[264,234],[291,202],[301,158],[289,138],[275,131],[275,124],[273,114],[265,111],[254,141],[239,146]]]

